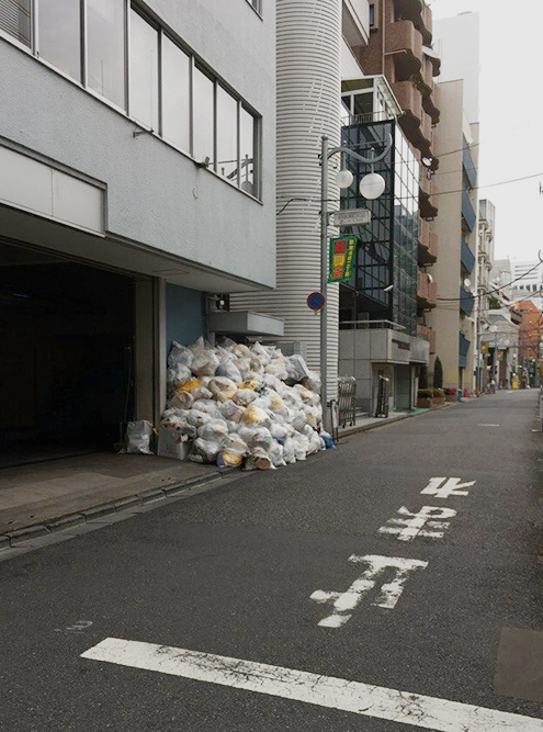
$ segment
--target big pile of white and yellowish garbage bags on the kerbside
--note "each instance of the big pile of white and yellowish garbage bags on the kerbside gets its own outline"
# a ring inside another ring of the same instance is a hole
[[[193,441],[194,462],[270,470],[331,442],[321,429],[319,376],[301,356],[259,342],[173,341],[167,380],[160,427]]]

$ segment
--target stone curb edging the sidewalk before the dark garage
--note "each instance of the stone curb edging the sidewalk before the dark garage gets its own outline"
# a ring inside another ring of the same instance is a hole
[[[203,485],[207,485],[208,483],[216,483],[223,477],[229,476],[231,473],[236,472],[240,472],[239,469],[225,468],[224,470],[217,471],[210,475],[192,477],[186,481],[180,481],[179,483],[172,483],[165,488],[151,488],[149,491],[145,491],[144,493],[136,494],[135,496],[120,498],[114,503],[100,504],[98,506],[93,506],[92,508],[86,508],[84,510],[79,510],[73,514],[57,516],[38,525],[34,523],[32,526],[23,527],[22,529],[16,529],[16,531],[5,531],[0,536],[0,549],[15,549],[19,547],[19,544],[25,541],[31,541],[32,539],[36,539],[38,537],[49,536],[52,533],[56,533],[57,531],[64,531],[83,523],[93,522],[97,519],[103,518],[105,516],[121,514],[133,508],[147,506],[150,503],[157,503],[165,498],[173,498],[174,496],[192,491],[192,488],[201,487]]]

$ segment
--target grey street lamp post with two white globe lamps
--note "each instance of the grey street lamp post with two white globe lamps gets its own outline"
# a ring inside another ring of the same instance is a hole
[[[373,155],[371,158],[365,158],[359,155],[350,147],[340,145],[339,147],[328,147],[328,136],[323,135],[320,147],[320,291],[324,295],[324,307],[320,311],[320,402],[323,404],[323,421],[326,430],[330,429],[330,418],[328,415],[328,161],[333,155],[343,153],[346,156],[354,158],[360,162],[372,166],[372,172],[367,173],[360,181],[360,194],[371,201],[378,199],[385,190],[385,180],[378,173],[373,172],[373,164],[382,160],[392,147],[392,136],[388,136],[388,143],[384,140],[376,140],[370,143],[373,145],[385,145],[385,149],[381,155]],[[339,188],[349,188],[353,182],[353,176],[348,170],[340,170],[337,177]]]

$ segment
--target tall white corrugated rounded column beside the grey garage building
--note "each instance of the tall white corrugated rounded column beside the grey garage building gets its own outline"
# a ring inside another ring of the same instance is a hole
[[[278,215],[278,288],[231,297],[235,309],[285,318],[285,339],[304,340],[317,370],[320,316],[306,299],[320,290],[320,138],[326,134],[330,147],[339,145],[340,50],[341,0],[278,0],[278,212],[289,204]],[[339,207],[336,162],[330,161],[330,210]],[[338,285],[329,285],[329,398],[337,395],[338,317]]]

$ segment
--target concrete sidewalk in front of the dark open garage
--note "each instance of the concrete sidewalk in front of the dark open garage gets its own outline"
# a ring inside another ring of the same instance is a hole
[[[224,473],[216,465],[109,452],[9,468],[0,471],[0,545],[149,503]]]

